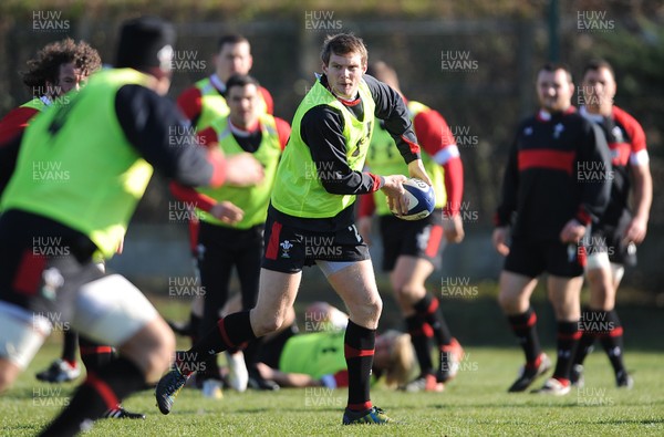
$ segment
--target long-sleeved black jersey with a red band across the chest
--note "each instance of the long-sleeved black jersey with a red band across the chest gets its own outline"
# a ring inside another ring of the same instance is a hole
[[[558,239],[575,218],[588,225],[603,214],[610,194],[606,141],[573,107],[540,111],[523,121],[505,170],[496,225],[512,225],[512,236]]]

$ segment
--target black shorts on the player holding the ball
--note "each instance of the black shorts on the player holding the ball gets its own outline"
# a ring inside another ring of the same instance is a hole
[[[369,247],[355,225],[336,232],[313,232],[290,227],[268,214],[262,268],[297,273],[315,261],[356,262],[370,259]]]

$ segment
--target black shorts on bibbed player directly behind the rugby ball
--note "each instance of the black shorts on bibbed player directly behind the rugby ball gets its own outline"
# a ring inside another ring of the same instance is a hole
[[[443,212],[435,209],[422,220],[402,220],[392,215],[378,219],[383,239],[383,271],[394,270],[398,257],[407,254],[440,267],[443,247]]]

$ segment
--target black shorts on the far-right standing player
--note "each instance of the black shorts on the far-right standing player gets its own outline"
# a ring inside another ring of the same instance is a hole
[[[623,236],[632,221],[632,215],[624,210],[615,225],[593,225],[590,238],[583,238],[588,254],[608,252],[609,261],[623,266],[636,266],[636,244],[625,244]]]

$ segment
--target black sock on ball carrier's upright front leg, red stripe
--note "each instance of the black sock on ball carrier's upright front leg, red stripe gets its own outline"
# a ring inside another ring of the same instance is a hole
[[[343,341],[349,370],[349,409],[363,412],[372,407],[369,384],[375,341],[375,330],[369,330],[349,320]]]

